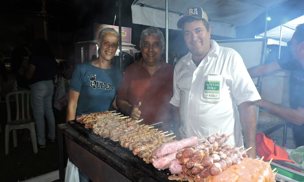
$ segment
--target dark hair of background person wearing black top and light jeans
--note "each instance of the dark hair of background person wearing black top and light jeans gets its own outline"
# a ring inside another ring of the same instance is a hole
[[[36,39],[33,44],[33,55],[55,58],[52,49],[50,48],[50,45],[45,39]]]

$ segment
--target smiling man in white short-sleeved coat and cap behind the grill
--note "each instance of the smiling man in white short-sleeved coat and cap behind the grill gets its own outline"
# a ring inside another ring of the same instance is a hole
[[[211,27],[202,8],[188,8],[177,26],[190,52],[174,69],[170,100],[174,133],[179,132],[182,138],[207,139],[212,134],[234,132],[227,142],[241,147],[241,124],[246,147],[253,147],[247,154],[255,158],[256,117],[252,102],[261,97],[241,56],[210,40]]]

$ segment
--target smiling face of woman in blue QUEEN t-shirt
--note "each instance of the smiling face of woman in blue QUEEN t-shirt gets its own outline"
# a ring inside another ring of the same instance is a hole
[[[103,38],[97,42],[99,47],[99,56],[104,61],[111,61],[115,56],[118,45],[118,37],[114,33],[105,33]]]

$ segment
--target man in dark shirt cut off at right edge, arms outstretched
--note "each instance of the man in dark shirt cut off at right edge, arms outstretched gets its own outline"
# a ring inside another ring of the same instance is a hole
[[[296,27],[290,45],[292,58],[279,59],[269,64],[263,64],[248,69],[251,78],[265,75],[278,70],[290,71],[290,108],[285,108],[261,99],[255,103],[268,112],[293,123],[293,135],[296,146],[304,145],[304,24]],[[285,56],[287,57],[287,56]]]

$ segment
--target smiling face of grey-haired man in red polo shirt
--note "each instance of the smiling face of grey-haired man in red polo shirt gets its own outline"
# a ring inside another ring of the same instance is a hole
[[[161,61],[161,54],[164,53],[165,46],[161,46],[161,39],[157,38],[153,33],[151,38],[146,36],[140,45],[143,61],[146,65],[156,65]]]

